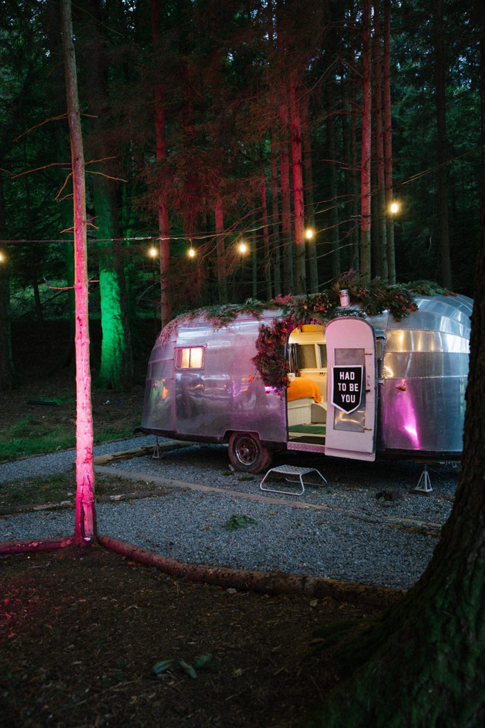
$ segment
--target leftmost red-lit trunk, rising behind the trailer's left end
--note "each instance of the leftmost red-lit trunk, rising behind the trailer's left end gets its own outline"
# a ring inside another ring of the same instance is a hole
[[[153,50],[156,60],[159,60],[160,50],[160,0],[151,0],[151,28]],[[167,158],[167,142],[165,139],[165,111],[161,84],[155,83],[153,88],[155,102],[155,145],[156,161],[163,162]],[[160,295],[161,295],[161,325],[162,327],[172,319],[172,307],[169,296],[169,269],[170,269],[170,223],[169,207],[163,194],[159,193],[156,199],[156,209],[159,218],[159,248],[160,248]]]

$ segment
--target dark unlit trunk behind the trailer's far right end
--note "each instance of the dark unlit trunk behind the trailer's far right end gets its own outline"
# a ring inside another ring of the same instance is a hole
[[[438,129],[438,218],[441,285],[452,288],[448,224],[448,141],[446,139],[446,58],[443,0],[434,4],[436,126]]]

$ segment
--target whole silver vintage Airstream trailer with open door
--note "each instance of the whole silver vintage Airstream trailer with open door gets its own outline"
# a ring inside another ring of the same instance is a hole
[[[417,296],[400,321],[355,306],[289,332],[283,395],[254,376],[260,317],[215,327],[181,320],[159,335],[148,363],[145,433],[228,443],[238,470],[260,472],[273,451],[457,459],[462,451],[472,301]],[[355,315],[353,315],[353,309]],[[168,331],[168,333],[167,333]]]

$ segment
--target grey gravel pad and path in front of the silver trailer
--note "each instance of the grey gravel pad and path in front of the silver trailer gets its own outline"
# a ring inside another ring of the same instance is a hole
[[[95,454],[153,442],[153,438],[99,446]],[[24,472],[70,470],[73,451],[0,465],[0,482]],[[278,454],[273,465],[315,467],[328,481],[296,496],[293,486],[275,483],[288,494],[262,493],[260,475],[233,472],[223,446],[192,446],[164,454],[119,460],[112,474],[140,480],[169,479],[197,488],[163,488],[163,495],[97,505],[101,534],[180,561],[235,569],[286,571],[347,582],[407,588],[425,569],[452,507],[458,472],[452,464],[428,466],[430,494],[413,490],[422,464],[364,463]],[[15,475],[6,475],[6,468]],[[106,472],[106,471],[105,471]],[[209,486],[212,491],[204,490]],[[135,487],[134,487],[135,489]],[[233,531],[226,523],[246,517]],[[66,537],[73,512],[42,511],[0,518],[0,540]]]

